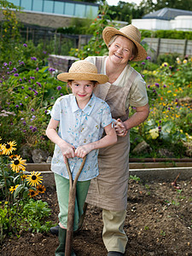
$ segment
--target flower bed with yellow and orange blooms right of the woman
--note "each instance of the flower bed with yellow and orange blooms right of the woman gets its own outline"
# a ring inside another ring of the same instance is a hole
[[[150,72],[146,79],[150,114],[143,124],[131,131],[131,136],[135,140],[137,135],[138,142],[145,140],[152,148],[153,157],[158,156],[156,148],[169,148],[177,157],[189,154],[192,108],[184,97],[191,97],[191,64],[189,56],[183,60],[177,57],[175,68],[163,62],[152,72],[154,76]],[[145,75],[148,70],[141,72]],[[133,146],[137,144],[133,143]]]

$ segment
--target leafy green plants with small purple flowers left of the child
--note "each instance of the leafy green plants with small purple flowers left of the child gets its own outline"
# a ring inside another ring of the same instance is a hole
[[[55,79],[55,69],[43,67],[43,61],[30,56],[27,47],[22,45],[17,66],[9,61],[4,62],[1,69],[0,134],[3,140],[15,139],[19,149],[22,145],[49,149],[51,144],[45,137],[49,122],[47,113],[55,99],[67,94],[68,90]]]

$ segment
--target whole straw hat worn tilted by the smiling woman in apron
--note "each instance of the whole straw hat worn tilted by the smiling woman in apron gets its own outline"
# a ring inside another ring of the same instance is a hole
[[[119,30],[112,26],[106,26],[102,32],[102,38],[104,39],[105,44],[107,44],[107,46],[111,38],[113,38],[113,36],[115,35],[124,36],[125,38],[130,39],[134,44],[136,44],[137,55],[131,61],[142,61],[146,59],[147,52],[140,44],[141,33],[139,32],[136,26],[128,25],[120,28]]]

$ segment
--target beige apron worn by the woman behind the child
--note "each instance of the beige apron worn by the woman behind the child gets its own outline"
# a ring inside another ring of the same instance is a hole
[[[96,57],[98,73],[101,72],[102,57]],[[124,87],[110,83],[98,84],[94,93],[108,102],[113,119],[125,121],[129,109],[125,109],[125,101],[131,89],[137,72],[131,73]],[[111,211],[123,211],[127,204],[127,189],[129,177],[129,132],[125,137],[118,137],[113,146],[99,150],[99,176],[92,179],[86,202],[96,207]]]

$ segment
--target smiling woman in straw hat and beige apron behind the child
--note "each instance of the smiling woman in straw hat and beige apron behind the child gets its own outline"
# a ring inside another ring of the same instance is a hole
[[[108,256],[125,253],[127,236],[123,230],[127,206],[129,178],[129,131],[148,118],[148,96],[142,76],[129,61],[142,61],[147,53],[140,44],[137,27],[128,25],[117,30],[107,26],[102,37],[108,46],[108,56],[87,57],[96,65],[98,73],[108,75],[108,83],[98,85],[95,95],[111,108],[118,143],[99,150],[98,177],[90,183],[86,201],[102,207],[102,239]],[[129,106],[136,108],[129,118]]]

